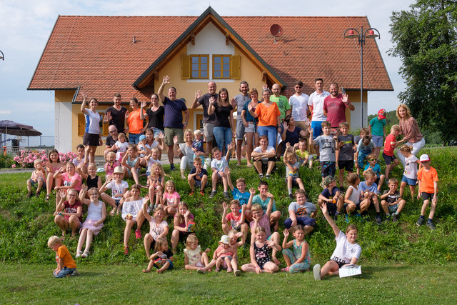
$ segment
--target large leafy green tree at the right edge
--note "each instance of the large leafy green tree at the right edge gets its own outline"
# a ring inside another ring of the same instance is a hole
[[[417,0],[409,11],[393,11],[389,55],[403,61],[407,104],[421,129],[438,131],[445,144],[457,141],[457,1]]]

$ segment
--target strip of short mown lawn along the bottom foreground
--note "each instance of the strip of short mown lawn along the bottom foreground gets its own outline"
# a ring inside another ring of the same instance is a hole
[[[81,264],[82,265],[82,264]],[[136,264],[84,264],[81,276],[54,279],[51,264],[4,264],[2,303],[43,304],[455,304],[457,264],[362,266],[353,278],[305,274],[143,274]]]

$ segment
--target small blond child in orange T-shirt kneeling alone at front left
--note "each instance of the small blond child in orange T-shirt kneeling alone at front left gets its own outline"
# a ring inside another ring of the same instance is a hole
[[[76,261],[59,237],[49,237],[48,246],[52,251],[56,251],[57,268],[52,272],[56,278],[79,275],[79,271],[76,270]]]

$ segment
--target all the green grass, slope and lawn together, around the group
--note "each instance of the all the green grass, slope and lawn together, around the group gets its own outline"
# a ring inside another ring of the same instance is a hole
[[[332,278],[321,283],[312,282],[312,275],[309,273],[261,275],[261,278],[254,274],[243,274],[240,279],[233,276],[227,278],[226,274],[197,276],[182,269],[184,257],[181,244],[176,255],[176,269],[160,277],[161,289],[165,290],[161,294],[151,293],[159,282],[157,279],[151,280],[151,276],[156,278],[158,275],[141,273],[141,269],[146,266],[144,246],[142,240],[134,238],[134,234],[129,241],[130,254],[124,256],[122,244],[125,224],[119,216],[108,216],[104,229],[94,239],[89,258],[77,261],[78,269],[84,276],[62,281],[52,279],[51,271],[55,268],[54,252],[46,246],[46,241],[51,235],[60,235],[52,216],[55,197],[51,196],[49,203],[44,201],[44,194],[39,199],[27,199],[26,179],[29,179],[30,173],[1,174],[0,296],[6,296],[7,299],[1,297],[0,300],[2,303],[49,303],[57,298],[59,301],[82,304],[107,300],[106,298],[114,295],[114,303],[146,303],[150,299],[145,299],[144,295],[149,294],[154,297],[154,301],[163,299],[178,302],[185,298],[186,301],[199,303],[238,303],[243,300],[253,302],[253,296],[260,298],[257,301],[263,302],[274,301],[278,297],[297,302],[297,298],[303,297],[312,300],[312,303],[416,303],[427,298],[436,298],[433,301],[438,303],[448,303],[447,298],[451,298],[451,294],[446,294],[446,291],[455,286],[457,268],[457,149],[423,149],[421,153],[431,155],[432,166],[438,170],[440,179],[435,216],[437,229],[431,231],[426,226],[418,228],[415,225],[422,202],[411,200],[406,189],[406,208],[403,209],[398,223],[383,223],[381,226],[377,226],[373,220],[356,223],[359,229],[358,243],[362,247],[362,276],[341,280]],[[235,162],[230,163],[233,181],[236,177],[243,176],[248,187],[257,187],[258,175],[254,170],[235,166]],[[278,163],[278,171],[268,180],[276,206],[283,214],[281,231],[290,204],[284,172],[283,164]],[[397,167],[392,176],[401,179],[401,174],[402,169]],[[318,186],[321,181],[318,166],[311,171],[303,168],[300,175],[305,182],[308,196],[316,204],[318,194],[321,193]],[[216,249],[222,234],[221,202],[224,199],[221,186],[218,186],[219,193],[214,199],[209,199],[210,189],[206,189],[205,196],[196,194],[189,197],[189,186],[186,181],[179,179],[178,171],[171,173],[171,179],[176,182],[181,200],[189,204],[191,212],[196,216],[196,234],[201,246]],[[143,180],[144,177],[141,182],[144,182]],[[130,185],[133,183],[131,179],[127,181]],[[142,191],[142,194],[146,194],[146,190]],[[373,219],[373,210],[370,214]],[[335,241],[333,231],[326,221],[321,219],[321,215],[316,220],[318,225],[306,236],[306,240],[310,245],[313,264],[323,264],[331,256]],[[171,219],[169,224],[172,229]],[[341,229],[346,228],[346,225],[344,220],[338,221]],[[142,231],[146,234],[149,225],[144,224]],[[67,239],[65,244],[74,254],[77,239]],[[246,264],[249,261],[248,249],[241,248],[238,256],[240,264]],[[258,284],[252,285],[254,277]],[[71,285],[74,290],[66,289],[68,281],[74,284],[81,281],[81,284]],[[209,281],[211,289],[208,289]],[[312,285],[303,286],[303,283]],[[346,284],[349,284],[351,289],[344,289],[348,286]],[[338,299],[326,292],[329,291],[328,286],[338,289]],[[249,299],[246,299],[247,297]]]

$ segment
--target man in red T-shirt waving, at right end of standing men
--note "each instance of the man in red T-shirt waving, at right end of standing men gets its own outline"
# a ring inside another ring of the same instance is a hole
[[[346,108],[354,111],[356,108],[348,100],[347,94],[338,93],[338,84],[330,84],[330,95],[323,100],[323,115],[327,116],[331,128],[338,129],[340,123],[346,121]]]

